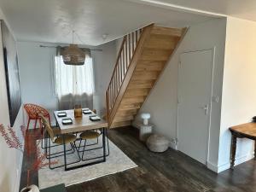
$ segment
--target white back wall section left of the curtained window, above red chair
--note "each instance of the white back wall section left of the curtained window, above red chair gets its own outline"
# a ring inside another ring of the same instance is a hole
[[[38,43],[18,42],[23,103],[37,103],[49,111],[57,108],[57,98],[54,96],[51,78],[55,53],[55,49],[40,48]]]

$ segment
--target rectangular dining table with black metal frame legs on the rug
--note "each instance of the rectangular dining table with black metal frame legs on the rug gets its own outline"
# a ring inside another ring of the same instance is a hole
[[[100,160],[95,160],[93,162],[79,164],[77,166],[70,166],[67,167],[67,162],[65,160],[64,166],[65,171],[81,168],[84,166],[91,166],[97,163],[102,163],[106,161],[106,131],[108,128],[108,122],[105,119],[98,119],[96,121],[91,120],[91,117],[96,116],[96,113],[94,113],[92,110],[90,110],[90,113],[84,113],[84,110],[82,109],[83,113],[81,117],[74,116],[74,109],[69,110],[61,110],[61,111],[55,111],[54,116],[56,120],[56,126],[60,128],[59,134],[63,137],[63,140],[65,140],[65,134],[77,134],[79,132],[83,131],[92,131],[92,130],[100,130],[102,132],[102,158]],[[60,115],[60,113],[66,114],[65,116]],[[65,124],[63,123],[63,119],[71,119],[71,124]],[[64,153],[66,153],[64,149]]]

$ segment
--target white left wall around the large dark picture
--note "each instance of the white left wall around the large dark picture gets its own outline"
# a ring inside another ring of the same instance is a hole
[[[0,18],[4,19],[0,10]],[[3,44],[2,32],[0,29],[0,124],[4,126],[10,125],[9,122],[9,106],[6,88],[6,79],[3,62]],[[23,125],[22,108],[15,120],[14,129],[20,131],[20,125]],[[20,172],[22,163],[22,154],[20,151],[10,149],[0,137],[0,191],[1,192],[17,192],[20,185]]]

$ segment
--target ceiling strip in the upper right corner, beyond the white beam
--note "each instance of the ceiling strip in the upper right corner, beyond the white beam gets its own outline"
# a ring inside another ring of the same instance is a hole
[[[181,6],[256,21],[256,0],[131,0],[160,6]],[[168,4],[169,3],[169,4]]]

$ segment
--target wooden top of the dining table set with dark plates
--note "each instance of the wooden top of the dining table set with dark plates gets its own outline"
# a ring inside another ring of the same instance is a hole
[[[60,112],[66,112],[66,117],[58,117],[58,113]],[[80,132],[80,131],[87,131],[87,130],[94,130],[94,129],[100,129],[104,127],[108,127],[108,123],[106,120],[101,119],[99,121],[91,121],[89,119],[90,115],[94,115],[96,113],[91,112],[90,114],[84,114],[82,118],[74,118],[73,109],[71,110],[63,110],[63,111],[55,111],[55,119],[58,122],[61,134],[66,133],[73,133],[73,132]],[[62,119],[71,118],[73,120],[72,125],[63,125]]]

